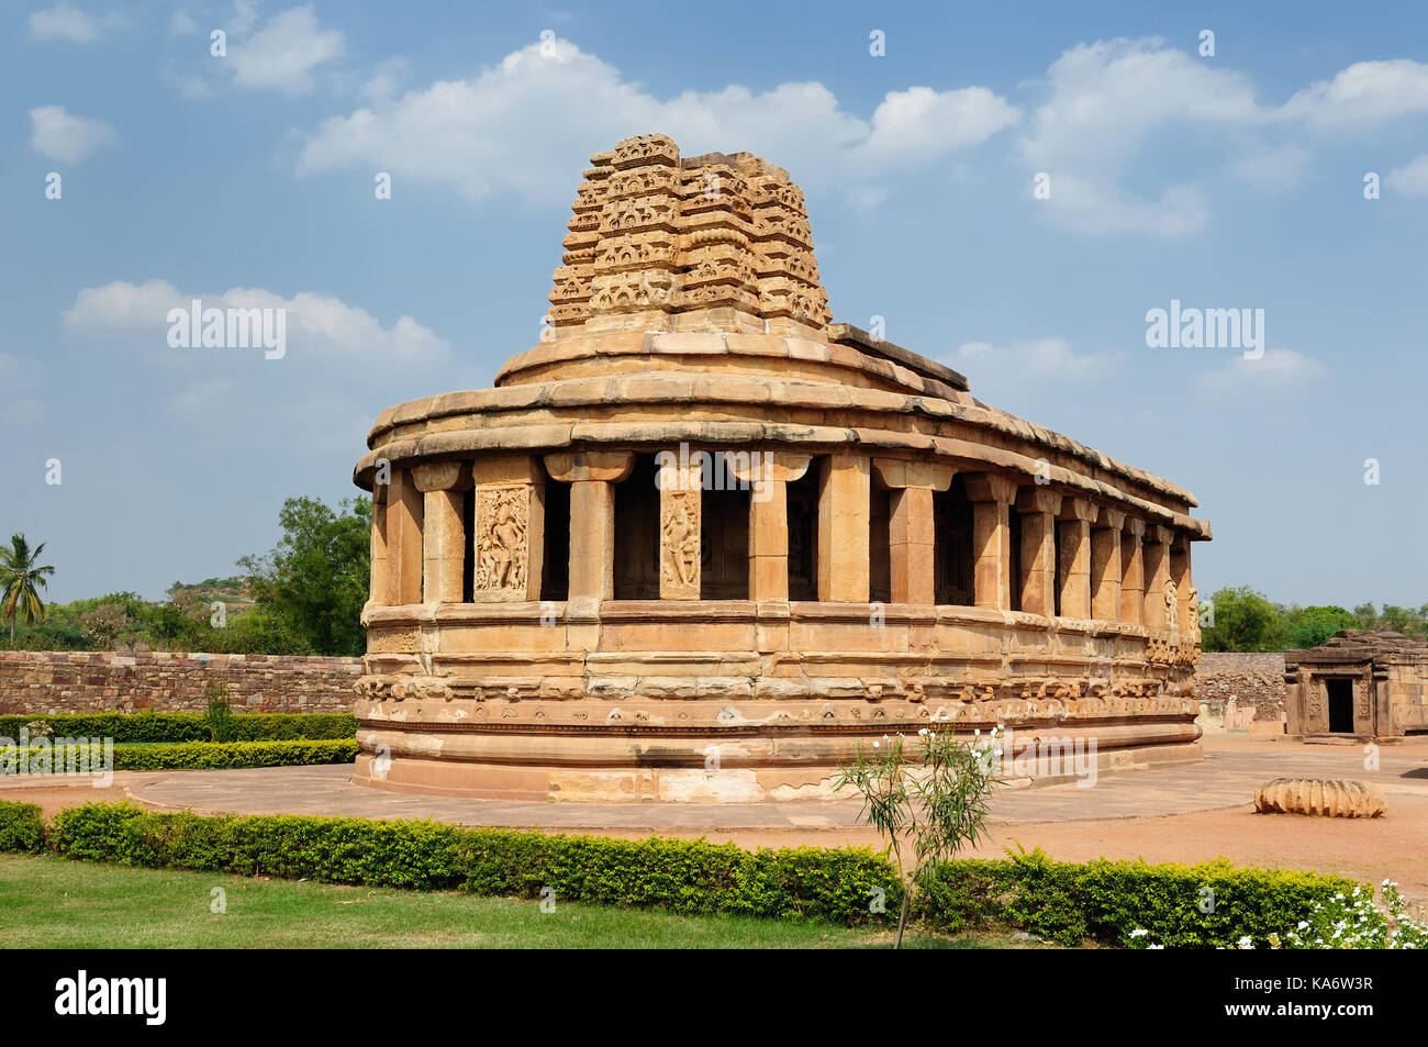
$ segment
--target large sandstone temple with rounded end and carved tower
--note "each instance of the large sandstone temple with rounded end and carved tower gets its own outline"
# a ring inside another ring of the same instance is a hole
[[[1194,497],[831,323],[804,196],[661,134],[591,157],[548,330],[377,419],[356,780],[830,796],[931,720],[1200,756]]]

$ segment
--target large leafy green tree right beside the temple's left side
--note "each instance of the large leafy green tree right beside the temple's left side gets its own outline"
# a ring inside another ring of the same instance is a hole
[[[257,606],[244,616],[254,634],[283,634],[288,651],[361,654],[361,608],[371,571],[371,501],[288,499],[278,513],[283,537],[264,556],[246,556]]]

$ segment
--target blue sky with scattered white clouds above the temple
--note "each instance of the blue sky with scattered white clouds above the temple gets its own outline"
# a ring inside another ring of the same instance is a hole
[[[0,531],[57,600],[231,573],[537,341],[590,153],[664,131],[790,170],[835,319],[1192,490],[1202,593],[1428,603],[1425,9],[985,7],[6,4]],[[170,349],[220,296],[287,354]],[[1172,299],[1267,351],[1148,349]]]

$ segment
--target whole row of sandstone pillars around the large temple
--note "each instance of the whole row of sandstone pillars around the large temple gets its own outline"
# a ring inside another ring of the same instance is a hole
[[[565,451],[393,467],[390,481],[377,484],[373,496],[373,603],[461,603],[467,584],[476,603],[538,600],[544,486],[563,483],[570,486],[567,606],[577,617],[595,611],[614,597],[615,484],[630,476],[634,460],[633,451]],[[681,469],[690,471],[681,476]],[[818,600],[868,601],[868,519],[877,483],[890,494],[892,603],[932,604],[934,496],[950,489],[955,470],[858,454],[814,460],[771,453],[730,466],[751,491],[750,600],[788,598],[787,487],[810,469],[818,470]],[[1020,477],[971,473],[962,486],[971,503],[977,607],[1045,617],[1060,611],[1155,630],[1190,626],[1185,534]],[[463,506],[473,487],[474,534],[467,534]],[[661,466],[663,600],[700,596],[700,493],[697,464]],[[1167,594],[1171,583],[1174,597]]]

